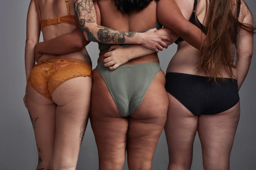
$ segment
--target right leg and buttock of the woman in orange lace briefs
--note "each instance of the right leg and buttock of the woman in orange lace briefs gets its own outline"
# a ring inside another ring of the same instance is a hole
[[[75,169],[90,111],[92,79],[68,80],[52,94],[56,109],[53,169]]]

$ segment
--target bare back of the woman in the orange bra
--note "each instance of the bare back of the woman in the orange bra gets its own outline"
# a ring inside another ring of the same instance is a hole
[[[42,20],[53,19],[60,16],[68,15],[66,0],[39,0],[38,1],[39,4],[37,4],[37,0],[34,0],[34,1],[36,3],[36,6],[39,5]],[[70,14],[75,16],[72,0],[69,0],[69,10],[70,10]],[[44,41],[51,40],[65,33],[71,33],[75,28],[76,27],[74,25],[66,24],[66,23],[48,25],[44,27],[44,29],[42,30],[43,39]],[[74,58],[74,59],[84,60],[84,56],[82,55],[82,52],[86,53],[85,47],[81,51],[77,51],[77,52],[73,52],[65,55],[57,56],[57,55],[43,54],[38,60],[38,62],[46,59],[52,59],[52,58]]]

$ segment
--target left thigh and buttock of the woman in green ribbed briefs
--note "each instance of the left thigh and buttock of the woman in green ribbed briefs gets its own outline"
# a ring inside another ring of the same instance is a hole
[[[98,148],[99,169],[123,169],[128,118],[121,117],[107,85],[96,69],[93,71],[90,122]]]

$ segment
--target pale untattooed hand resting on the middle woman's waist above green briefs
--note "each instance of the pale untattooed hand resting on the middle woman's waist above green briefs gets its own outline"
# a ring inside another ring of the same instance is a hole
[[[108,67],[110,70],[114,70],[120,65],[125,64],[127,61],[131,59],[131,52],[129,48],[122,47],[120,45],[112,45],[109,52],[104,54],[104,66]]]

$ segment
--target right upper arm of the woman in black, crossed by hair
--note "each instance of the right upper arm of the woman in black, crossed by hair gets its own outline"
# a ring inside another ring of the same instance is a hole
[[[253,27],[253,17],[247,6],[242,2],[241,14],[245,12],[245,16],[242,19],[242,23]],[[250,33],[241,27],[238,28],[238,34],[236,36],[236,49],[239,57],[248,57],[253,54],[253,33]],[[239,59],[239,58],[238,58]]]

